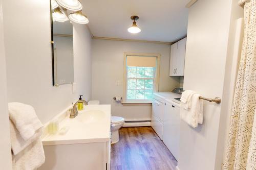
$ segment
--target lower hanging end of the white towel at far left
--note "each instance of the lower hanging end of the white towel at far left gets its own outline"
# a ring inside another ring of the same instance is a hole
[[[13,170],[34,170],[45,162],[45,152],[40,139],[32,142],[26,149],[12,156]]]

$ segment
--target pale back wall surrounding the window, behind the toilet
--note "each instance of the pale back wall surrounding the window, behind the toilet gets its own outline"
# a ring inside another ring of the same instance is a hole
[[[160,58],[159,91],[170,91],[179,86],[180,78],[169,77],[168,44],[93,39],[92,99],[101,104],[111,104],[111,114],[126,120],[151,120],[151,105],[123,106],[113,101],[114,96],[123,96],[124,52],[158,53]],[[120,84],[117,85],[116,82]]]

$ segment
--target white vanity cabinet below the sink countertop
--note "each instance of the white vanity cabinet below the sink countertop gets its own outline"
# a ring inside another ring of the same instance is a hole
[[[109,170],[108,142],[45,145],[46,161],[38,170]]]

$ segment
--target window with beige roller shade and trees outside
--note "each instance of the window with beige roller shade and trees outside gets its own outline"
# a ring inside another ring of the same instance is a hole
[[[129,103],[150,102],[158,91],[160,55],[124,55],[124,100]],[[125,103],[124,102],[124,103]]]

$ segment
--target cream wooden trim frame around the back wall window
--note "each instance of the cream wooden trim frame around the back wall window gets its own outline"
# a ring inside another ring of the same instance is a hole
[[[159,74],[160,74],[160,54],[148,54],[148,53],[124,53],[123,57],[123,101],[122,104],[136,105],[136,104],[151,104],[152,101],[149,100],[127,100],[127,69],[126,60],[127,56],[138,56],[138,57],[156,57],[156,69],[155,69],[155,81],[153,86],[153,92],[158,92],[159,85]],[[142,78],[147,79],[147,78]]]

